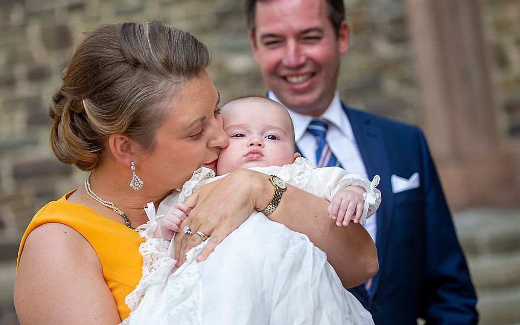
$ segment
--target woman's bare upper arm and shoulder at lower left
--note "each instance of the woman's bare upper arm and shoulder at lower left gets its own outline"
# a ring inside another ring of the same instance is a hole
[[[74,229],[44,224],[27,237],[15,282],[23,324],[118,324],[101,263]]]

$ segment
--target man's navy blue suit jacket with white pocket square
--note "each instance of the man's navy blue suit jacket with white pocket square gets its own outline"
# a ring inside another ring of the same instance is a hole
[[[376,325],[476,324],[476,295],[426,140],[418,127],[343,108],[367,169],[381,176],[379,271],[368,296],[352,288]],[[344,166],[348,170],[348,166]],[[393,193],[393,174],[419,173],[418,188]]]

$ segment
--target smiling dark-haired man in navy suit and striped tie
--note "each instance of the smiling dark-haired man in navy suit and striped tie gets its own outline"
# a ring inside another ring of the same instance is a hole
[[[246,0],[244,7],[268,96],[289,109],[304,157],[381,176],[382,203],[366,224],[379,272],[350,291],[376,324],[476,323],[475,292],[422,132],[339,98],[348,50],[342,0]]]

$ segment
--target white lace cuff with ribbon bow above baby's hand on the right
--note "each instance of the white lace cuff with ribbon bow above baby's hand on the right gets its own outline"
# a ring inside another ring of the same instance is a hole
[[[380,177],[375,175],[372,181],[369,181],[365,176],[355,173],[348,173],[340,180],[340,183],[336,186],[333,191],[333,196],[346,186],[353,185],[359,186],[365,189],[363,193],[363,214],[359,222],[363,223],[365,220],[373,215],[378,210],[379,204],[381,203],[381,191],[376,188],[379,184]]]

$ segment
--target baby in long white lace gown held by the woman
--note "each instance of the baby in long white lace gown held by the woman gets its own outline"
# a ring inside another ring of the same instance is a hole
[[[343,288],[323,251],[307,236],[260,212],[251,214],[205,261],[195,260],[203,241],[188,251],[183,265],[175,266],[170,240],[189,215],[183,201],[237,168],[276,175],[327,199],[329,215],[339,226],[347,226],[351,218],[363,222],[381,201],[375,188],[378,176],[370,183],[339,167],[314,168],[294,153],[291,118],[275,101],[243,97],[227,103],[222,114],[229,145],[220,151],[219,176],[201,167],[180,193],[161,202],[157,213],[152,203],[145,209],[150,221],[138,227],[146,238],[139,247],[143,276],[126,297],[131,313],[123,323],[373,324],[370,313]],[[207,239],[195,230],[191,236]]]

